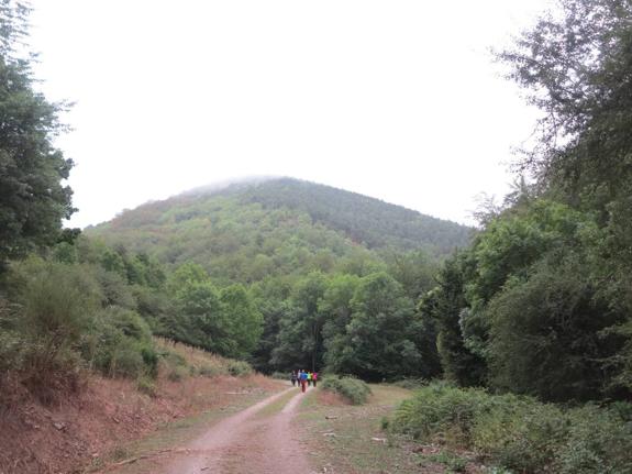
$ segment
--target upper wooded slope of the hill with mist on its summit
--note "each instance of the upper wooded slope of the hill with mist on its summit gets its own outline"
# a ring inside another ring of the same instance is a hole
[[[439,257],[467,245],[470,229],[329,186],[270,178],[149,202],[86,232],[167,264],[192,261],[211,274],[222,268],[214,277],[252,282],[329,271],[367,251]]]

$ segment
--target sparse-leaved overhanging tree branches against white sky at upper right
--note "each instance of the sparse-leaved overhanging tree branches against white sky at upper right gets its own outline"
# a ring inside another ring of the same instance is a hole
[[[522,168],[572,203],[601,210],[627,192],[632,128],[632,4],[561,0],[515,46],[498,54],[544,117]],[[603,216],[606,217],[606,216]]]

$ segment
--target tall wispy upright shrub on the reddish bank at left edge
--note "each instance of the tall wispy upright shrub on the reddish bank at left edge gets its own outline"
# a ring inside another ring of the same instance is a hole
[[[12,304],[0,301],[0,370],[20,372],[43,403],[79,389],[77,346],[99,307],[98,284],[79,265],[32,257],[11,266],[3,288]]]

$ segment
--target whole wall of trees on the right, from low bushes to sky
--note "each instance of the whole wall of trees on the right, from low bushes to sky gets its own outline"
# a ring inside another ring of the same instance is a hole
[[[540,107],[539,144],[420,309],[445,375],[544,400],[632,392],[632,11],[568,0],[498,53]]]

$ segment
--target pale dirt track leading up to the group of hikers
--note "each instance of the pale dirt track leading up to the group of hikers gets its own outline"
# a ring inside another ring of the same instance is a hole
[[[256,417],[264,407],[296,392],[277,414]],[[165,474],[310,473],[303,449],[292,434],[292,415],[300,389],[290,387],[229,417],[193,441],[187,453],[169,463]]]

